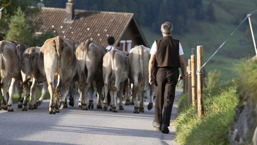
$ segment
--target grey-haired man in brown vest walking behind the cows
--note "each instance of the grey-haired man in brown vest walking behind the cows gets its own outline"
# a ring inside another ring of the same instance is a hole
[[[161,25],[163,37],[153,43],[148,66],[149,83],[155,84],[156,95],[153,127],[166,134],[169,133],[168,126],[170,126],[177,81],[182,80],[182,76],[185,75],[184,53],[179,40],[171,37],[172,32],[173,25],[171,23],[165,22]],[[179,67],[181,74],[179,74]],[[153,70],[154,68],[155,70]]]

